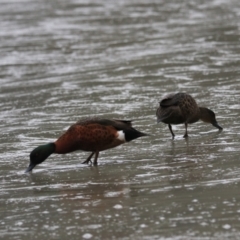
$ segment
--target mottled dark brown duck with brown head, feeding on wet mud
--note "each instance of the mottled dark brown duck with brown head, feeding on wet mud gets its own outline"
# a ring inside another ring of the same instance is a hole
[[[186,93],[169,94],[160,102],[157,109],[157,121],[168,124],[169,130],[174,138],[171,124],[185,124],[185,134],[183,137],[188,137],[187,126],[190,123],[195,123],[202,120],[206,123],[211,123],[214,127],[222,130],[218,125],[215,113],[204,107],[199,107],[192,96]]]

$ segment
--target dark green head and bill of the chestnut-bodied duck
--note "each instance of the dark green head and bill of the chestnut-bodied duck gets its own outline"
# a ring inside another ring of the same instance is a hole
[[[30,153],[30,164],[26,169],[25,173],[32,171],[32,169],[37,165],[45,161],[53,152],[55,151],[55,144],[48,143],[41,145]]]

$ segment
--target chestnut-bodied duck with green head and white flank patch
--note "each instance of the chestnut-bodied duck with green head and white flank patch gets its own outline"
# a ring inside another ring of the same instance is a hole
[[[54,143],[35,148],[30,154],[30,165],[26,172],[45,161],[52,153],[65,154],[77,150],[91,152],[83,163],[89,163],[95,154],[94,164],[97,164],[100,151],[146,135],[134,129],[131,121],[98,118],[80,120]]]

